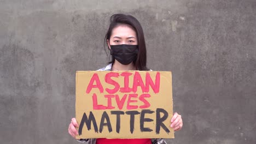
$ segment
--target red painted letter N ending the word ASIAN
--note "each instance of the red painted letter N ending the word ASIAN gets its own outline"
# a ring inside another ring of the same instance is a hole
[[[155,84],[151,79],[149,73],[146,73],[146,92],[149,92],[149,85],[153,89],[154,93],[159,93],[159,86],[160,86],[160,73],[157,72],[155,75]]]

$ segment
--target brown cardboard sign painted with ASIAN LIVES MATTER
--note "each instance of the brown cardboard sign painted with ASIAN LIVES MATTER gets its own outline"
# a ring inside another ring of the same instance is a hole
[[[77,71],[76,139],[174,138],[171,71]]]

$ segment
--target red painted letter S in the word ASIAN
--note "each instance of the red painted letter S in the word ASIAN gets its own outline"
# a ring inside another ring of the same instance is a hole
[[[119,87],[120,87],[119,84],[118,84],[118,82],[116,82],[116,81],[114,81],[114,80],[111,79],[111,77],[118,77],[118,76],[119,76],[118,73],[108,73],[108,74],[105,75],[105,81],[106,81],[107,83],[109,83],[110,85],[113,85],[113,86],[114,86],[113,89],[106,88],[106,91],[107,91],[109,94],[114,94],[114,93],[116,93],[116,92],[118,91],[118,89],[119,89]]]

